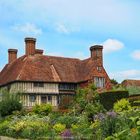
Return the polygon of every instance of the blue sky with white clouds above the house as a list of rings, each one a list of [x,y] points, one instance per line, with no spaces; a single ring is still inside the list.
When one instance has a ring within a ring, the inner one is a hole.
[[[7,50],[25,54],[25,37],[37,39],[46,55],[90,57],[104,46],[104,67],[112,79],[140,80],[139,0],[0,0],[0,70]]]

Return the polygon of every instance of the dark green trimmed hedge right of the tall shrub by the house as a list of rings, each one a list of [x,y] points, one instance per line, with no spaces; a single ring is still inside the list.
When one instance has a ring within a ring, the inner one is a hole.
[[[110,110],[113,108],[115,102],[122,98],[128,98],[129,92],[127,90],[122,91],[107,91],[100,93],[100,102],[105,109]]]

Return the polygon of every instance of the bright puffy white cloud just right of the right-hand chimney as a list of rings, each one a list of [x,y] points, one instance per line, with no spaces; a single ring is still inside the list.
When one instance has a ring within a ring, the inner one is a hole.
[[[102,43],[104,46],[104,52],[110,53],[119,51],[124,48],[124,44],[116,39],[107,39],[105,42]]]

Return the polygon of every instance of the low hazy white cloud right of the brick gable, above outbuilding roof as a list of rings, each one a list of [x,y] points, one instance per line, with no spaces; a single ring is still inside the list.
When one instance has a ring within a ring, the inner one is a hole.
[[[117,79],[118,81],[122,81],[124,79],[140,79],[140,70],[125,70],[110,73],[110,78]]]

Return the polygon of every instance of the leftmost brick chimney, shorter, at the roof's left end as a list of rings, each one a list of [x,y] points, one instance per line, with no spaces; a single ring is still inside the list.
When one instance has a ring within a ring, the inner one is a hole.
[[[17,49],[8,49],[8,63],[12,63],[14,60],[17,59]]]

